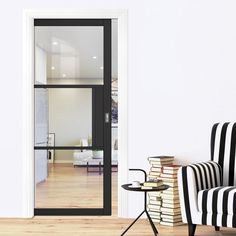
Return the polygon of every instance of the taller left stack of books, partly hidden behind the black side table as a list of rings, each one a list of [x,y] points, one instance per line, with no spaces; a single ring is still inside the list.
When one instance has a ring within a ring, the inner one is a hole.
[[[163,166],[173,164],[174,157],[173,156],[156,156],[149,157],[148,161],[151,165],[150,172],[148,175],[149,181],[154,182],[158,181],[163,184],[163,181],[159,179]],[[160,182],[161,181],[161,182]],[[159,186],[160,186],[159,185]],[[161,207],[162,207],[162,198],[161,191],[160,192],[150,192],[148,193],[149,202],[147,205],[147,210],[152,218],[153,222],[160,223],[161,221]]]

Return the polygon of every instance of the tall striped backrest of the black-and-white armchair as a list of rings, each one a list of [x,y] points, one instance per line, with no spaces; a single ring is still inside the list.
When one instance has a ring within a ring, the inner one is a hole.
[[[236,123],[217,123],[211,132],[211,160],[223,170],[223,186],[236,185]]]

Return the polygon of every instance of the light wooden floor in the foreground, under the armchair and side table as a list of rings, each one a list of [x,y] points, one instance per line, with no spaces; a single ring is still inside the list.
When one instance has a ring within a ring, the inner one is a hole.
[[[0,235],[58,235],[58,236],[118,236],[129,225],[131,220],[109,217],[35,217],[30,220],[2,219],[0,220]],[[164,227],[157,225],[159,235],[184,236],[187,227]],[[127,236],[152,236],[150,225],[146,220],[138,221],[127,233]],[[227,236],[236,235],[235,229],[222,229],[215,232],[213,227],[198,226],[196,236]]]

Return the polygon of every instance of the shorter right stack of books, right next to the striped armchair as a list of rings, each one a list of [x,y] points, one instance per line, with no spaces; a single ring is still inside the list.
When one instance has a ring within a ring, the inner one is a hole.
[[[159,179],[169,185],[167,190],[161,193],[161,221],[160,224],[167,226],[181,225],[182,217],[180,210],[177,172],[179,165],[163,166]]]

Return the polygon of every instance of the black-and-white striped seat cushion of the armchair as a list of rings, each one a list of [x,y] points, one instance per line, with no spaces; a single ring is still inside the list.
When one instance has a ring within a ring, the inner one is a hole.
[[[203,214],[236,214],[236,186],[221,186],[199,191],[198,209]]]

